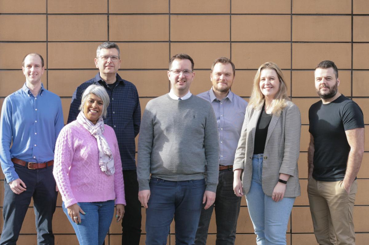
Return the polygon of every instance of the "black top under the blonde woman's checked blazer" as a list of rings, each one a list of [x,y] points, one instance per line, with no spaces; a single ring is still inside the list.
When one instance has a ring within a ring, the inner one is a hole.
[[[266,136],[268,134],[268,127],[272,114],[267,114],[263,105],[262,112],[260,113],[258,123],[255,128],[255,142],[254,142],[254,154],[263,154],[265,148]]]

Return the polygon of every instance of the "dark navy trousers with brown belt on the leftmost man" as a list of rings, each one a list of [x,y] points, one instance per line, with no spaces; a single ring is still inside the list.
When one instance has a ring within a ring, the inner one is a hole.
[[[14,164],[15,172],[27,186],[21,194],[15,194],[7,181],[4,181],[4,226],[1,245],[15,245],[21,230],[28,206],[33,198],[36,216],[37,244],[54,245],[52,216],[55,212],[58,192],[55,191],[53,166],[42,169],[28,169]]]

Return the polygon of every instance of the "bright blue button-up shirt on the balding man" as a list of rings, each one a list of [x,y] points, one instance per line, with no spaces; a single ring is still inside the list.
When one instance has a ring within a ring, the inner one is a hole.
[[[43,84],[36,97],[26,84],[6,97],[0,118],[0,163],[7,182],[19,178],[13,157],[37,163],[53,160],[55,142],[63,126],[61,100],[45,90]]]

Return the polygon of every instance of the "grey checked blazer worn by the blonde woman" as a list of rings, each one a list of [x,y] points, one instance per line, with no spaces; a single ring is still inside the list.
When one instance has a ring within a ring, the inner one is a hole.
[[[288,174],[284,197],[300,196],[297,160],[300,154],[301,115],[291,101],[286,101],[279,116],[272,115],[265,141],[262,168],[262,188],[267,196],[272,196],[279,174]],[[244,194],[248,193],[252,179],[252,155],[254,153],[255,129],[262,105],[254,109],[246,108],[241,137],[235,154],[233,170],[242,169],[241,180]]]

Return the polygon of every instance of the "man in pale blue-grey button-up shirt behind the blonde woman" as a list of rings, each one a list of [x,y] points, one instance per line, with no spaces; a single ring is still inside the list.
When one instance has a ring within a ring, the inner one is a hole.
[[[241,197],[233,191],[233,161],[241,135],[247,102],[231,91],[235,66],[230,59],[220,57],[211,66],[213,87],[197,96],[209,101],[217,118],[219,134],[219,179],[215,203],[202,209],[196,232],[196,245],[205,245],[211,214],[215,207],[217,224],[216,245],[234,244]]]

